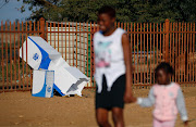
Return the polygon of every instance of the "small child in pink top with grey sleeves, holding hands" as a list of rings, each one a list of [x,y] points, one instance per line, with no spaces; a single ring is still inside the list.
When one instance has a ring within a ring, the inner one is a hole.
[[[152,86],[148,98],[138,98],[137,103],[142,106],[151,106],[154,110],[154,127],[174,127],[177,111],[184,125],[187,126],[187,113],[184,97],[180,86],[171,82],[170,77],[173,68],[168,63],[160,63],[156,72],[157,84]]]

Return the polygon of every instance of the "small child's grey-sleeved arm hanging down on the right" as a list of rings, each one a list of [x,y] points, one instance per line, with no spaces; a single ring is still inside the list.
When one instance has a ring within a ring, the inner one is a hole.
[[[187,118],[187,112],[186,112],[185,102],[184,102],[184,96],[181,88],[177,91],[176,106],[181,114],[181,119],[186,123],[188,118]]]

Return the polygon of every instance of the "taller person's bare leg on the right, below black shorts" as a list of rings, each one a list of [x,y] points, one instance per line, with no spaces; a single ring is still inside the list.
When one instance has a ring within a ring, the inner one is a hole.
[[[115,127],[124,127],[123,118],[123,109],[113,107],[112,109],[112,118]]]

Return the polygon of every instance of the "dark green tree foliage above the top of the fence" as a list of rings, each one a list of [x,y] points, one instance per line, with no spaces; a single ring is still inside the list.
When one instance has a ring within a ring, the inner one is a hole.
[[[102,5],[117,10],[118,22],[196,22],[195,0],[23,0],[30,20],[96,22]],[[21,8],[24,12],[24,5]]]

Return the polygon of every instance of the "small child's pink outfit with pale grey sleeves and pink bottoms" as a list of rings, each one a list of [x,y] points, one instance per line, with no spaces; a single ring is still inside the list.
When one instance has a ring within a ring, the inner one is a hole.
[[[148,98],[138,98],[137,103],[142,106],[155,105],[154,127],[164,127],[163,125],[174,127],[177,112],[180,112],[182,120],[187,120],[184,97],[176,82],[167,86],[154,85]]]

